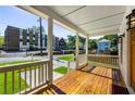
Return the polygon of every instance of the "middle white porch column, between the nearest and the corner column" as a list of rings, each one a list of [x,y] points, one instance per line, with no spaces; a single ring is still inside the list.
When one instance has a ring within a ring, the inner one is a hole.
[[[77,70],[78,68],[78,42],[79,42],[79,39],[78,39],[78,33],[76,33],[76,42],[75,42],[75,46],[76,46],[76,50],[75,50],[75,61],[76,61],[76,65],[75,65],[75,68]]]

